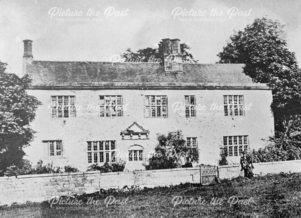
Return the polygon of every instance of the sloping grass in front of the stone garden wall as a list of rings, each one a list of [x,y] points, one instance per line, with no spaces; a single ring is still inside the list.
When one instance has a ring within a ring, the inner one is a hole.
[[[301,174],[269,174],[211,186],[181,184],[127,192],[109,190],[69,198],[73,202],[82,200],[82,205],[57,203],[50,207],[46,201],[2,206],[0,217],[301,217],[300,185]],[[231,196],[237,196],[239,201]],[[99,205],[87,204],[92,197]],[[213,197],[221,204],[210,204]],[[194,204],[183,204],[189,201]]]

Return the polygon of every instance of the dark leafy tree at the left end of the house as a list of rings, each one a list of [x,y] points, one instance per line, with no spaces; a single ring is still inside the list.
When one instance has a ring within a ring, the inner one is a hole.
[[[6,66],[0,62],[0,175],[8,166],[22,164],[22,148],[29,146],[35,133],[29,123],[41,104],[26,92],[31,79],[7,73]]]

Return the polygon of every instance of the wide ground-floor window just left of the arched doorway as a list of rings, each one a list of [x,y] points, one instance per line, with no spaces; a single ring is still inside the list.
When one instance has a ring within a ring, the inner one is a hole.
[[[87,141],[88,163],[116,162],[116,141]]]

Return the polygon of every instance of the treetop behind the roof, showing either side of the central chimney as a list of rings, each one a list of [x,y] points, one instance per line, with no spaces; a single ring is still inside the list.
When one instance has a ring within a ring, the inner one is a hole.
[[[191,53],[189,53],[189,47],[185,43],[180,44],[180,49],[183,55],[183,60],[186,62],[197,63],[198,60],[194,60]],[[137,52],[132,52],[131,48],[126,50],[126,53],[121,55],[121,58],[125,59],[125,62],[160,62],[162,57],[160,56],[158,48],[144,48],[139,49]]]

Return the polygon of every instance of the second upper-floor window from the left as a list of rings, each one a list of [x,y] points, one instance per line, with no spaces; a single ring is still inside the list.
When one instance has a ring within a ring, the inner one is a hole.
[[[122,95],[100,95],[101,117],[122,117],[123,100]]]

